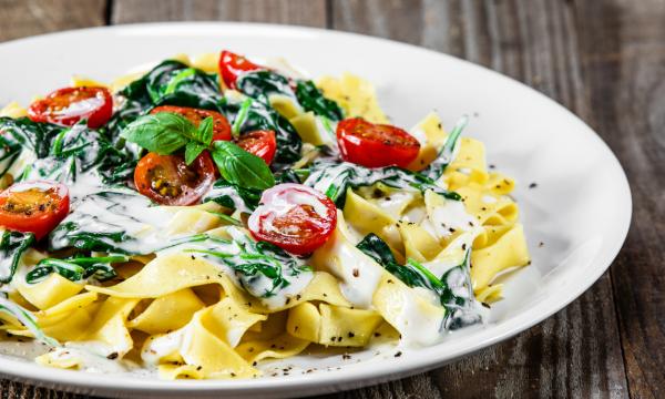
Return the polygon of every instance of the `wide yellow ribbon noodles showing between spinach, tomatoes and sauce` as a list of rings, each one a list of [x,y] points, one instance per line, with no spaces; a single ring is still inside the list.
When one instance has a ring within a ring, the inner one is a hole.
[[[217,53],[172,59],[208,73],[218,71]],[[71,85],[116,92],[143,73],[130,73],[109,85],[73,76]],[[340,104],[347,117],[388,123],[368,81],[345,73],[339,79],[324,76],[317,86]],[[323,146],[335,147],[332,121],[305,112],[291,95],[273,94],[269,101],[308,143],[295,167],[307,167],[325,153]],[[10,103],[0,116],[25,116],[25,110]],[[408,168],[420,171],[437,157],[448,134],[433,112],[409,132],[421,146]],[[288,294],[283,305],[249,295],[232,272],[202,254],[177,248],[132,255],[130,262],[114,265],[119,276],[111,282],[85,285],[51,274],[35,284],[17,283],[9,298],[31,311],[47,336],[64,344],[37,358],[60,368],[85,369],[92,356],[113,365],[119,364],[110,359],[124,358],[156,367],[165,379],[248,378],[260,375],[254,367],[258,361],[289,358],[313,344],[432,345],[443,338],[448,316],[440,298],[408,286],[358,249],[365,235],[381,237],[398,263],[410,258],[439,276],[462,265],[471,250],[471,282],[475,299],[483,303],[502,296],[502,285],[492,284],[497,275],[530,260],[519,208],[510,197],[515,182],[488,171],[480,141],[462,137],[453,154],[437,184],[459,193],[462,203],[432,191],[382,183],[348,190],[332,237],[308,260],[311,279],[299,293]],[[139,238],[154,236],[168,243],[202,233],[229,238],[227,222],[215,215],[228,209],[213,202],[155,208],[163,216],[158,226],[146,223],[137,231]],[[454,216],[457,224],[441,215]],[[29,250],[20,267],[32,267],[42,257]],[[9,334],[33,336],[11,315],[0,313],[0,323]],[[76,345],[92,355],[70,349]]]

